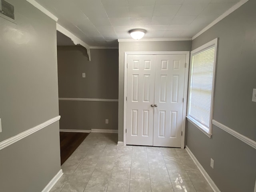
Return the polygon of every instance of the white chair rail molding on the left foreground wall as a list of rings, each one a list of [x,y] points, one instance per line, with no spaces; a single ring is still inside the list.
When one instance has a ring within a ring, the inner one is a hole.
[[[60,120],[60,116],[56,116],[56,117],[54,117],[54,118],[52,118],[52,119],[50,119],[46,122],[43,122],[43,123],[41,123],[41,124],[39,124],[39,125],[37,125],[33,128],[30,128],[30,129],[28,129],[24,132],[21,132],[20,134],[18,134],[16,136],[13,136],[11,138],[8,138],[8,139],[0,142],[0,150],[10,146],[11,144],[14,144],[14,143],[18,142],[19,140],[33,134],[34,132],[37,132],[37,131],[41,130],[42,128],[45,128],[45,127],[49,126],[50,124],[53,124],[54,122],[56,122],[58,120]]]

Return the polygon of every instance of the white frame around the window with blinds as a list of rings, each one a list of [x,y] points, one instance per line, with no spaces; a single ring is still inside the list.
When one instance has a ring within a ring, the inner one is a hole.
[[[193,56],[205,51],[207,48],[214,46],[215,52],[214,52],[214,66],[213,66],[213,78],[212,78],[212,95],[211,95],[211,107],[210,107],[210,122],[209,122],[209,128],[201,124],[198,120],[190,117],[189,111],[190,111],[190,98],[191,98],[191,88],[192,88],[192,74],[193,74]],[[217,54],[218,54],[218,38],[215,38],[214,40],[211,40],[210,42],[192,50],[190,52],[190,69],[189,69],[189,86],[188,86],[188,106],[187,106],[187,119],[189,122],[194,124],[200,131],[202,131],[204,134],[206,134],[209,138],[212,136],[212,118],[213,118],[213,105],[214,105],[214,91],[215,91],[215,74],[216,74],[216,63],[217,63]]]

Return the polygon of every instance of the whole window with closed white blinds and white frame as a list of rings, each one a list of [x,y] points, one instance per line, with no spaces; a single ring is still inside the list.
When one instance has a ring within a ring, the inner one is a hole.
[[[209,137],[212,135],[217,42],[216,38],[193,50],[190,58],[187,118]]]

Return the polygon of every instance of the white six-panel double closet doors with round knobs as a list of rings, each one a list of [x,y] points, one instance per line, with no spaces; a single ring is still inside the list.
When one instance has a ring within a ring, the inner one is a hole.
[[[186,54],[127,61],[126,144],[181,147]]]

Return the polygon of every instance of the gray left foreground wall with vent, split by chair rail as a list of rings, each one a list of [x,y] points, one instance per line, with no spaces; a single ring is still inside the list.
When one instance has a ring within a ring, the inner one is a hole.
[[[0,18],[0,142],[58,116],[56,22],[26,0]],[[58,122],[0,150],[0,191],[42,191],[60,170]]]

